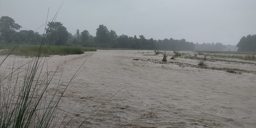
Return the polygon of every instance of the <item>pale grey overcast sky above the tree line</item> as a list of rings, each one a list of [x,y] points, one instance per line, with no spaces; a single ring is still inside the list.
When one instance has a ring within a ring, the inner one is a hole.
[[[0,17],[35,30],[52,19],[62,0],[0,0]],[[116,34],[194,43],[237,44],[256,34],[256,0],[66,0],[56,21],[93,36],[100,24]],[[23,30],[26,30],[23,28]],[[44,26],[36,30],[44,33]]]

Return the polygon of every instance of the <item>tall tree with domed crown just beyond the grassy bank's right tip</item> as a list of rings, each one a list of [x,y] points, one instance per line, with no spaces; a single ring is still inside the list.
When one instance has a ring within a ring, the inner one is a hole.
[[[99,28],[97,28],[96,30],[97,31],[95,41],[100,44],[109,43],[110,37],[108,28],[104,25],[99,25]]]

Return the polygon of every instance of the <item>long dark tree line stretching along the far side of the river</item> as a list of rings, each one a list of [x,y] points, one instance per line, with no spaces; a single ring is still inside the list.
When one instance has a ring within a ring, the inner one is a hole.
[[[0,43],[28,43],[40,44],[43,37],[44,42],[53,45],[81,45],[84,47],[102,47],[102,48],[126,48],[126,49],[151,49],[151,50],[173,50],[173,51],[246,51],[246,45],[255,46],[255,35],[242,37],[240,42],[235,45],[223,45],[222,43],[203,43],[194,44],[186,39],[165,38],[164,40],[146,39],[143,35],[133,37],[127,35],[117,36],[114,30],[108,30],[104,25],[99,25],[96,29],[96,36],[92,36],[87,30],[76,30],[76,34],[72,35],[67,31],[61,22],[49,22],[45,28],[46,34],[39,34],[32,30],[20,30],[19,24],[8,16],[0,18]],[[20,30],[19,32],[17,30]],[[252,41],[245,44],[244,42]],[[253,50],[253,47],[249,46]],[[256,48],[254,48],[255,50]]]

